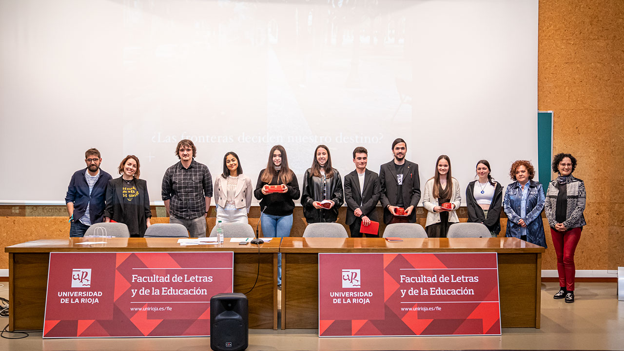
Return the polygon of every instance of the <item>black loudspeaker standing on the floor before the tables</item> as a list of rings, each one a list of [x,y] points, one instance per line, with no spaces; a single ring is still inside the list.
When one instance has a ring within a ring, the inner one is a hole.
[[[249,345],[245,294],[218,294],[210,299],[210,349],[242,351]]]

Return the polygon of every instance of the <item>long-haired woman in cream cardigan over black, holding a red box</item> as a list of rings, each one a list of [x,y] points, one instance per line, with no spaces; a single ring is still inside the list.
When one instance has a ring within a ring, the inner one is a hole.
[[[436,161],[436,175],[427,180],[422,196],[422,205],[429,211],[425,225],[427,236],[446,238],[451,224],[459,222],[456,210],[461,204],[459,182],[451,176],[451,159],[441,155]]]

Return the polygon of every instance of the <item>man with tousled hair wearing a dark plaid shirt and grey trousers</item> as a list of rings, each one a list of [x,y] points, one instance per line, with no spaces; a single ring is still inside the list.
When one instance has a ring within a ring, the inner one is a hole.
[[[169,167],[162,178],[162,199],[169,223],[184,225],[190,237],[205,237],[212,176],[208,166],[195,161],[197,149],[192,141],[178,142],[175,155],[180,162]]]

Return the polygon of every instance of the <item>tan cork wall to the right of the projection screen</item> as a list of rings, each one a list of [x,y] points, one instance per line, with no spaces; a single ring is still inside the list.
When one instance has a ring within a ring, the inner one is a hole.
[[[587,189],[576,267],[616,269],[624,265],[624,1],[540,0],[538,61],[538,107],[554,112],[553,153],[577,158],[574,175]],[[544,269],[552,269],[551,250]]]

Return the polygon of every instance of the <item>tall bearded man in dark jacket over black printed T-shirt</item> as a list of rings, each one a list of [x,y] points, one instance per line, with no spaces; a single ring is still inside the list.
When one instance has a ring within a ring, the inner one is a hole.
[[[384,207],[384,223],[416,222],[416,206],[421,200],[421,178],[418,165],[405,159],[406,142],[398,138],[392,142],[394,159],[381,165],[381,205]],[[399,217],[397,207],[405,209],[405,217]]]

